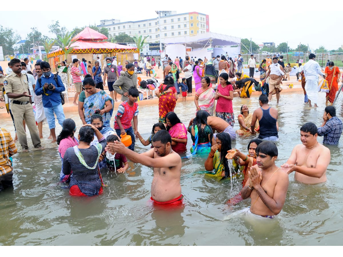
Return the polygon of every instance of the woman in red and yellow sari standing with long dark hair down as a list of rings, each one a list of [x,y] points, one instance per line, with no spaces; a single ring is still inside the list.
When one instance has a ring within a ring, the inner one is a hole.
[[[156,96],[158,97],[158,121],[166,123],[166,114],[174,111],[177,101],[177,92],[173,77],[166,76],[164,78],[164,83],[158,87]]]

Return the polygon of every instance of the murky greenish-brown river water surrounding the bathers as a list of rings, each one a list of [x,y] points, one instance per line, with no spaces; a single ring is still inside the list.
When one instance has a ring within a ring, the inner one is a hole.
[[[300,144],[301,125],[322,123],[324,94],[318,108],[305,107],[302,94],[281,95],[279,110],[279,157],[284,163],[293,147]],[[234,112],[247,104],[258,108],[258,98],[235,98]],[[193,101],[177,102],[175,112],[186,126],[193,117]],[[81,122],[74,118],[77,131]],[[342,113],[338,113],[341,117]],[[141,135],[147,138],[157,121],[157,106],[143,106],[138,115]],[[11,121],[2,125],[13,133]],[[111,123],[112,124],[112,123]],[[59,125],[58,125],[59,126]],[[47,125],[44,125],[48,136]],[[60,127],[57,128],[59,130]],[[232,147],[247,153],[252,137],[237,138]],[[319,142],[322,142],[322,138]],[[28,140],[30,141],[30,140]],[[102,172],[104,193],[89,198],[71,197],[58,185],[60,157],[57,147],[43,140],[43,151],[19,152],[13,156],[14,188],[0,193],[0,245],[341,245],[343,236],[342,139],[330,146],[328,181],[304,185],[289,175],[289,187],[283,210],[277,219],[260,221],[232,217],[232,213],[250,205],[250,200],[228,208],[226,201],[241,189],[243,178],[217,182],[194,174],[204,170],[204,156],[182,159],[181,187],[184,206],[176,209],[154,207],[150,201],[153,179],[151,168],[130,163],[126,174]],[[29,142],[31,143],[31,142]],[[32,144],[32,143],[31,143]],[[17,144],[17,146],[20,146]],[[188,137],[188,153],[191,146]],[[31,145],[32,147],[32,145]],[[135,150],[150,149],[139,142]]]

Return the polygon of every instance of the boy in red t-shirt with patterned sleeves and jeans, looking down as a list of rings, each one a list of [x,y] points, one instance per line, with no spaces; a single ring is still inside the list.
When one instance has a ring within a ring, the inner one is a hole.
[[[138,131],[138,103],[137,98],[139,91],[135,87],[129,89],[129,99],[122,102],[119,107],[115,117],[114,129],[117,135],[121,138],[125,133],[131,136],[132,144],[129,149],[134,151],[135,137],[137,137]],[[131,120],[133,118],[134,131],[132,129]]]

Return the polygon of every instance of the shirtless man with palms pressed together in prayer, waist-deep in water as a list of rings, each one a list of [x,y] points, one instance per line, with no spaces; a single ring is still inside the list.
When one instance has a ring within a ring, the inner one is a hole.
[[[288,176],[275,165],[278,151],[273,142],[265,141],[256,148],[258,168],[250,168],[249,179],[240,191],[243,199],[251,198],[247,212],[258,217],[274,218],[279,214],[286,199]]]

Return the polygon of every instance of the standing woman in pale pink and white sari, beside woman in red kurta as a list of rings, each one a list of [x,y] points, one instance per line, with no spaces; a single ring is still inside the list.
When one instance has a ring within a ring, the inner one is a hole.
[[[201,79],[201,87],[197,90],[194,97],[194,103],[197,107],[197,111],[204,110],[213,116],[214,112],[214,96],[215,91],[210,87],[211,80],[209,77],[203,77]]]

